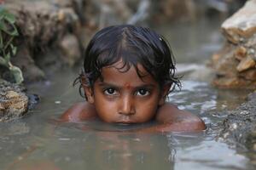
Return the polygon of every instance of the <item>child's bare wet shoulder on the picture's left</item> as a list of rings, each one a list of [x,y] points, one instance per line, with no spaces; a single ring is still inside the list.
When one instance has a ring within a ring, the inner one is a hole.
[[[79,102],[65,111],[60,119],[61,122],[81,122],[96,118],[96,110],[87,102]]]

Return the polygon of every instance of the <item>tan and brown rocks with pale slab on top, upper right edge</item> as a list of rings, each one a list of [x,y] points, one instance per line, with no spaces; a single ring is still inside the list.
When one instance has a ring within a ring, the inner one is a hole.
[[[213,84],[218,88],[256,88],[256,0],[247,1],[225,20],[224,47],[212,55],[216,72]]]

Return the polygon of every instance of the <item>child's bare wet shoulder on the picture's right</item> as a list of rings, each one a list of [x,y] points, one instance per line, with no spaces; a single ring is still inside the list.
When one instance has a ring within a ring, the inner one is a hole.
[[[181,111],[176,105],[166,103],[159,108],[156,121],[160,122],[161,131],[200,131],[206,129],[199,116],[189,111]]]

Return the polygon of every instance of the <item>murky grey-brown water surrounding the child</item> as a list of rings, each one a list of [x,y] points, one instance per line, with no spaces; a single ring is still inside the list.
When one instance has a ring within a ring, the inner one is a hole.
[[[201,65],[221,45],[218,23],[201,24],[208,27],[203,31],[201,25],[159,29],[172,41],[177,63],[186,64],[183,67]],[[173,36],[168,36],[169,31]],[[202,33],[206,36],[199,36]],[[218,122],[226,111],[244,101],[246,91],[218,90],[207,81],[186,78],[182,90],[173,92],[169,99],[180,109],[201,116],[207,123],[206,131],[114,133],[108,130],[137,126],[92,122],[97,130],[88,130],[90,122],[51,121],[83,100],[72,86],[76,74],[61,71],[49,82],[32,85],[30,92],[41,96],[40,104],[23,119],[0,124],[0,169],[253,169],[247,157],[216,140]]]

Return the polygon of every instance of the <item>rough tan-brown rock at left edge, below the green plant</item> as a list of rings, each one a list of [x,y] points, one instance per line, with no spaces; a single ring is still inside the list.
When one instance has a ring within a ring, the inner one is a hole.
[[[0,79],[0,122],[23,116],[28,109],[25,88]]]

